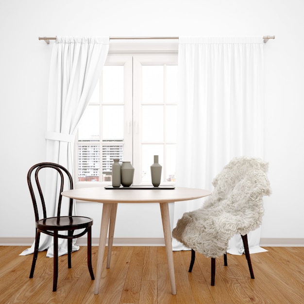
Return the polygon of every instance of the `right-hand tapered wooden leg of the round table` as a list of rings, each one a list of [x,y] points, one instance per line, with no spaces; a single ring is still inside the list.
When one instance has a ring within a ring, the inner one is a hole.
[[[159,204],[160,204],[160,212],[162,215],[162,222],[164,229],[171,289],[172,289],[172,294],[175,295],[176,287],[175,287],[175,274],[174,274],[173,252],[172,252],[172,236],[171,236],[170,218],[169,218],[169,203],[159,203]]]

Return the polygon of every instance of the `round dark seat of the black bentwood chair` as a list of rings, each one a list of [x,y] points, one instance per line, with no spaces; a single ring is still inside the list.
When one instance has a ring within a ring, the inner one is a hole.
[[[36,228],[39,230],[76,230],[92,225],[93,220],[91,218],[78,216],[53,217],[36,221]]]

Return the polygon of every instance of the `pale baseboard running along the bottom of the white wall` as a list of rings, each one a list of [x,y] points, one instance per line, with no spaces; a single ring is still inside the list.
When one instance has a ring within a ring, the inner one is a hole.
[[[0,237],[0,246],[32,246],[31,237]],[[77,245],[85,246],[86,237],[77,239]],[[92,246],[98,246],[99,238],[92,238]],[[114,237],[114,246],[165,246],[163,238],[119,238]],[[304,247],[304,238],[261,238],[261,247]]]

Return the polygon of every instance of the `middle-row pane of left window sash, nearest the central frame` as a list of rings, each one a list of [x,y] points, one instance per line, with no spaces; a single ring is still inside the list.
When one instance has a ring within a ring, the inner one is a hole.
[[[102,139],[123,139],[123,105],[102,106]]]

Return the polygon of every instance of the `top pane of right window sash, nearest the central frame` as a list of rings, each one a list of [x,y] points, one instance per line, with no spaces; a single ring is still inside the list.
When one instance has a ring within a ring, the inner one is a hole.
[[[164,102],[164,67],[142,66],[142,103]]]

